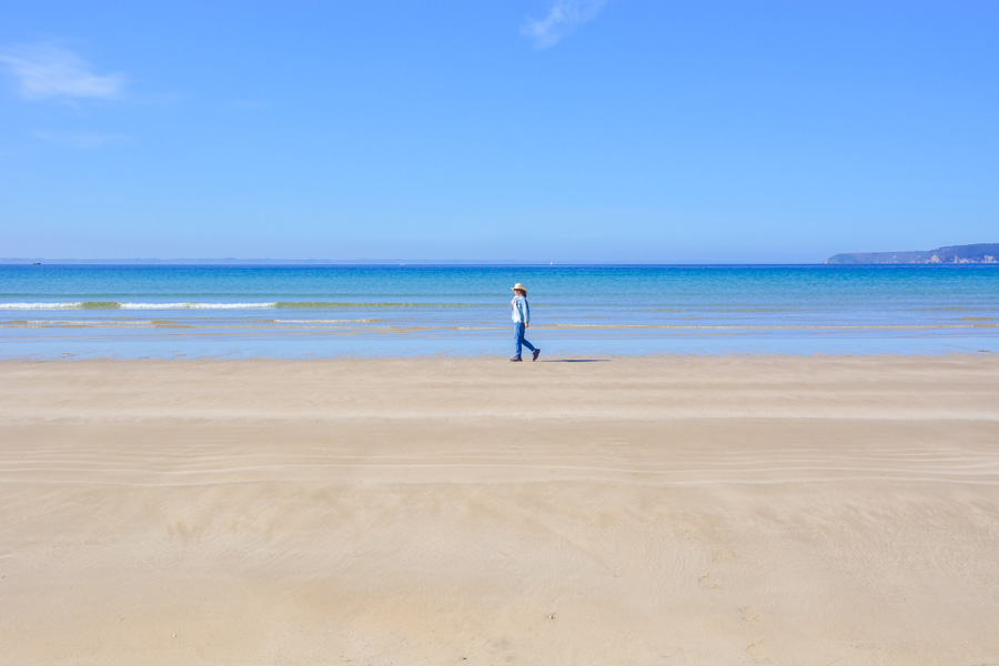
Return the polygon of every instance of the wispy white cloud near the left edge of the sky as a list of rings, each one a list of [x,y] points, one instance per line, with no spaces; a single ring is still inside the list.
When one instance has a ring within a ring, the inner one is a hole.
[[[0,63],[18,80],[24,99],[114,100],[124,94],[123,74],[97,74],[85,60],[53,44],[0,49]]]

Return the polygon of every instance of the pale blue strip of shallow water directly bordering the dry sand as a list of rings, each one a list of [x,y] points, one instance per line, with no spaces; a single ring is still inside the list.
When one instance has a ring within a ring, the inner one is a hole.
[[[991,326],[991,325],[990,325]],[[971,329],[973,326],[967,326]],[[983,326],[982,326],[983,327]],[[462,329],[462,332],[481,330]],[[504,329],[505,331],[505,329]],[[596,329],[601,336],[583,336],[579,331],[533,326],[529,339],[543,349],[543,362],[572,362],[577,359],[684,359],[684,357],[935,357],[979,356],[999,353],[999,339],[987,334],[972,336],[935,336],[924,333],[907,337],[875,335],[819,334],[798,339],[768,337],[718,332],[646,336],[644,329],[619,326],[616,331]],[[852,332],[851,332],[852,333]],[[340,333],[323,337],[269,337],[265,335],[222,337],[198,333],[155,341],[140,341],[123,335],[75,339],[64,337],[0,341],[0,363],[39,363],[49,361],[262,361],[336,362],[350,360],[428,360],[461,361],[505,360],[513,350],[508,335],[495,333],[451,337],[452,332],[422,335],[406,331],[384,335]],[[568,334],[568,335],[567,335]]]

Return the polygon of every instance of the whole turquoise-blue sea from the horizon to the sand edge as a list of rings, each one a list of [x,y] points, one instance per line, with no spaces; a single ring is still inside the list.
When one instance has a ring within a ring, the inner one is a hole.
[[[999,352],[999,268],[0,266],[0,357]]]

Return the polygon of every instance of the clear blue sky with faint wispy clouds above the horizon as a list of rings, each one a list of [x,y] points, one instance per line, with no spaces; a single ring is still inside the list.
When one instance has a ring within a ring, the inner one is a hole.
[[[999,2],[0,0],[0,256],[999,242]]]

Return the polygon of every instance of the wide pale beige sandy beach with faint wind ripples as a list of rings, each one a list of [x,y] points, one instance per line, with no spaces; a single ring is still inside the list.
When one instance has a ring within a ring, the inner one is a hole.
[[[999,663],[999,357],[0,362],[0,663]]]

